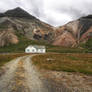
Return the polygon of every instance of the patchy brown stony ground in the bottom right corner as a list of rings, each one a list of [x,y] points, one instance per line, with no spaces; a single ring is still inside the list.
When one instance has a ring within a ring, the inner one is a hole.
[[[63,83],[71,92],[92,92],[92,76],[81,73],[41,70],[43,76],[56,83]]]

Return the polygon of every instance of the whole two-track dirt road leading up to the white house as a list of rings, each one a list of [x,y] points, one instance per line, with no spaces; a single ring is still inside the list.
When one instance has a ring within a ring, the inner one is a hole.
[[[31,57],[20,57],[4,66],[5,73],[0,76],[0,92],[71,92],[64,85],[41,78]]]

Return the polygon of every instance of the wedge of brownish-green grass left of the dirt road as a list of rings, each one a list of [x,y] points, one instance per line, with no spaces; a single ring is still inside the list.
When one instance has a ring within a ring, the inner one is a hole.
[[[27,54],[20,53],[20,54],[0,55],[0,67],[5,63],[8,63],[10,60],[24,55],[27,55]]]

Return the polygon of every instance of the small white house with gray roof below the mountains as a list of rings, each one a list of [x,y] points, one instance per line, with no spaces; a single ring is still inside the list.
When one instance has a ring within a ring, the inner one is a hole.
[[[30,45],[25,49],[26,53],[46,53],[45,46]]]

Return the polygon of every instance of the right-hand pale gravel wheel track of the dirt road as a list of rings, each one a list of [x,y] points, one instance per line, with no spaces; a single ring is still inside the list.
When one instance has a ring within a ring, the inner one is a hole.
[[[26,82],[30,88],[30,92],[48,92],[44,84],[40,80],[40,76],[30,57],[27,57],[24,61]]]

